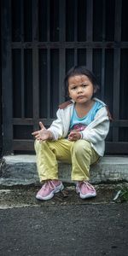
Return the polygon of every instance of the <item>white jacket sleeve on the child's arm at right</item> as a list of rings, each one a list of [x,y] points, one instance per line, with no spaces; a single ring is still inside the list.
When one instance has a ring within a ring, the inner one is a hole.
[[[104,141],[108,135],[109,125],[108,111],[103,107],[96,113],[93,122],[82,131],[83,139],[93,144]]]

